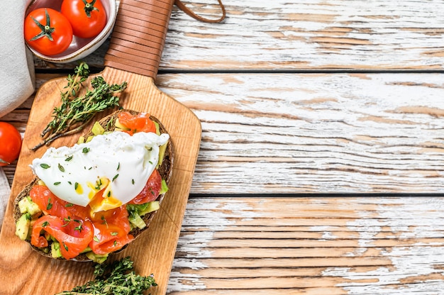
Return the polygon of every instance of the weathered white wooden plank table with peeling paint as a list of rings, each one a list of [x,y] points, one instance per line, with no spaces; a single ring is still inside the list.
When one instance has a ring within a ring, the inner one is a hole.
[[[203,128],[168,294],[443,294],[444,2],[223,3],[157,76]]]

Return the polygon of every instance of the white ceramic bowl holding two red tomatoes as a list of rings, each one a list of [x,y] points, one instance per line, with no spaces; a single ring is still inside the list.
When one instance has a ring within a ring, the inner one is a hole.
[[[26,11],[26,15],[33,11],[34,9],[38,9],[41,7],[46,7],[50,9],[55,9],[60,11],[60,7],[62,6],[63,0],[33,0],[30,1],[28,9]],[[116,0],[101,0],[104,9],[106,11],[107,21],[104,30],[96,35],[94,38],[78,38],[77,36],[73,36],[70,47],[67,48],[64,52],[60,53],[60,55],[42,55],[41,53],[33,50],[28,46],[28,48],[42,60],[46,60],[48,62],[73,62],[74,60],[80,60],[87,55],[90,55],[92,52],[97,50],[102,43],[105,42],[106,38],[109,37],[111,31],[113,30],[114,23],[116,22],[117,15],[117,3]]]

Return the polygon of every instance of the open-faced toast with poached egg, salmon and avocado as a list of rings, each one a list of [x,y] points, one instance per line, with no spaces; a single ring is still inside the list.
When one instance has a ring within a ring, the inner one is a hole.
[[[172,142],[160,121],[121,110],[72,147],[50,147],[16,197],[16,235],[40,254],[104,262],[148,228],[172,172]]]

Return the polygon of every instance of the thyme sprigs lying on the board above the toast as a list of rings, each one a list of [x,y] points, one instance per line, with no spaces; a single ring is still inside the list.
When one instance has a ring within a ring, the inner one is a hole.
[[[91,79],[92,89],[87,89],[84,95],[77,96],[88,77],[89,66],[85,62],[74,69],[74,75],[67,77],[68,83],[64,88],[66,91],[61,92],[62,103],[54,108],[52,121],[40,133],[40,137],[45,139],[31,150],[37,150],[62,136],[79,132],[96,113],[118,106],[119,97],[116,94],[126,89],[126,82],[108,84],[104,77],[96,76]]]

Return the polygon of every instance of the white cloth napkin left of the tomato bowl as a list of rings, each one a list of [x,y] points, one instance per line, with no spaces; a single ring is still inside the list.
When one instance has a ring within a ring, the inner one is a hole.
[[[30,0],[1,0],[0,118],[34,91],[33,55],[23,40],[23,19]]]

